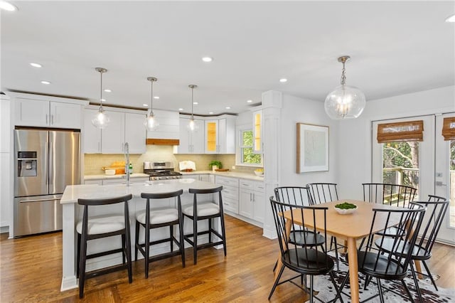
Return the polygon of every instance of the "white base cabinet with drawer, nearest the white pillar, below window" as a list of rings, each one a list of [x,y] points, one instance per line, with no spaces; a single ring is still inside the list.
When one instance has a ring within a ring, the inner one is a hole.
[[[241,179],[239,187],[239,214],[264,223],[264,183]]]

